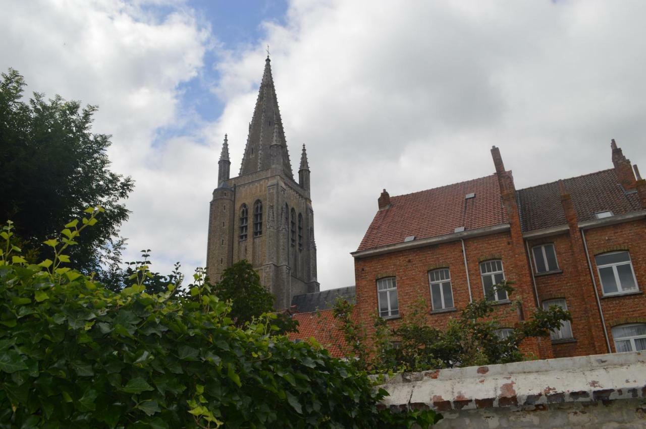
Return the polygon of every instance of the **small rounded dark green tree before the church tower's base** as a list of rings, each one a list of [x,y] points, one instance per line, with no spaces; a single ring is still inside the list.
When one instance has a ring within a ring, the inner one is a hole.
[[[236,326],[244,326],[262,314],[274,312],[274,295],[260,284],[260,276],[246,259],[224,270],[215,294],[224,301],[231,301],[230,317]],[[298,321],[289,315],[280,312],[276,317],[275,324],[282,332],[297,330]]]

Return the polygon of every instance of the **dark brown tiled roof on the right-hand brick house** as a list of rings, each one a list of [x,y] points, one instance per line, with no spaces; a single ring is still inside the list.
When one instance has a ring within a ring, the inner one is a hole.
[[[563,179],[579,222],[596,219],[595,213],[611,210],[621,215],[641,210],[636,192],[625,192],[614,168]],[[559,183],[545,183],[516,191],[523,232],[567,224]]]

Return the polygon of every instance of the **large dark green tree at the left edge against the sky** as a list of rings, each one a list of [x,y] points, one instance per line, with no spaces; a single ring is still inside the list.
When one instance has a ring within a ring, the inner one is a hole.
[[[26,102],[23,77],[12,69],[1,76],[0,221],[16,222],[16,234],[32,249],[25,257],[35,260],[60,225],[87,206],[105,207],[101,223],[78,239],[70,258],[81,272],[107,276],[120,262],[119,228],[129,215],[123,200],[133,182],[110,171],[109,136],[91,131],[96,106],[39,93]]]

